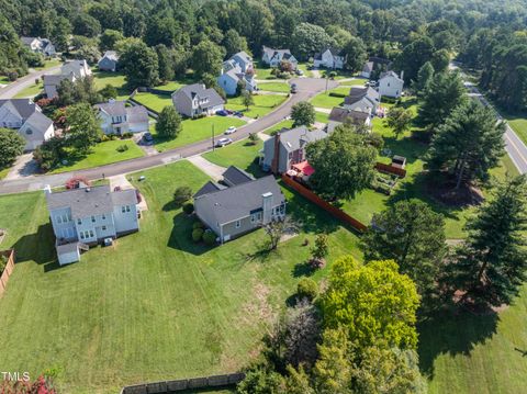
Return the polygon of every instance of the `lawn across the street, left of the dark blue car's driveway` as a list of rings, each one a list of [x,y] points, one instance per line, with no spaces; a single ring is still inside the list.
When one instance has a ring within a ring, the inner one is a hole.
[[[117,147],[126,145],[128,150],[117,151]],[[110,165],[116,161],[134,159],[144,156],[143,150],[132,139],[106,140],[97,144],[91,153],[85,157],[70,157],[69,164],[60,166],[52,171],[52,173],[76,171],[85,168],[99,167]]]

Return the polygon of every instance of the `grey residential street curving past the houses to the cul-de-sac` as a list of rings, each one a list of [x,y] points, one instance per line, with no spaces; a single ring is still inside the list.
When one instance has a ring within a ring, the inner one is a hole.
[[[231,135],[233,140],[239,140],[246,138],[249,133],[258,133],[272,125],[279,123],[283,119],[290,115],[291,108],[299,101],[305,101],[313,95],[322,92],[326,88],[325,79],[316,78],[298,78],[291,81],[296,83],[298,93],[292,94],[291,98],[282,105],[277,108],[273,112],[258,119],[257,121],[249,123]],[[338,83],[335,81],[327,81],[327,88],[333,89]],[[145,156],[137,159],[120,161],[108,166],[98,168],[90,168],[80,171],[65,172],[49,176],[36,176],[27,177],[24,179],[0,181],[0,194],[7,193],[20,193],[25,191],[42,190],[46,184],[53,187],[63,185],[66,180],[71,176],[82,176],[90,180],[100,179],[102,175],[104,177],[113,177],[123,173],[139,171],[145,168],[162,166],[184,157],[194,156],[212,149],[212,140],[202,140],[195,144],[187,145],[181,148],[167,150],[155,156]]]

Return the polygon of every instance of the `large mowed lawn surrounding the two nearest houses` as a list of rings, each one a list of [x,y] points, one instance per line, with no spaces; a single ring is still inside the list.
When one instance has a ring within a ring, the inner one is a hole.
[[[278,251],[258,254],[265,235],[221,247],[191,241],[193,217],[172,204],[177,187],[197,191],[208,177],[187,161],[132,175],[149,211],[141,232],[58,267],[43,192],[0,196],[0,223],[18,264],[0,299],[0,365],[7,371],[61,369],[64,393],[116,393],[125,384],[240,370],[285,306],[310,255],[305,238],[329,234],[328,266],[360,258],[357,237],[284,190],[302,233]],[[329,267],[317,271],[319,281]]]

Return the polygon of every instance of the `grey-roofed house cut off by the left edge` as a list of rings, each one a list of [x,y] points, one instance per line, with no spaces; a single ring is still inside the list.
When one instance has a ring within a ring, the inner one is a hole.
[[[53,121],[30,99],[0,100],[0,127],[18,130],[24,150],[34,150],[55,135]]]

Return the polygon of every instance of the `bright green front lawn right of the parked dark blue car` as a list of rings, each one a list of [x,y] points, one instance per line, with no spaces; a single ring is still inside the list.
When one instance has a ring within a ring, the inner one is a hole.
[[[156,131],[152,127],[152,133],[155,138],[156,149],[164,151],[173,149],[183,145],[198,143],[203,139],[212,137],[212,127],[214,126],[214,134],[216,138],[231,126],[239,127],[245,124],[245,121],[237,117],[227,116],[208,116],[202,119],[188,119],[182,122],[182,130],[175,139],[166,140],[157,136]],[[211,143],[212,144],[212,143]]]

